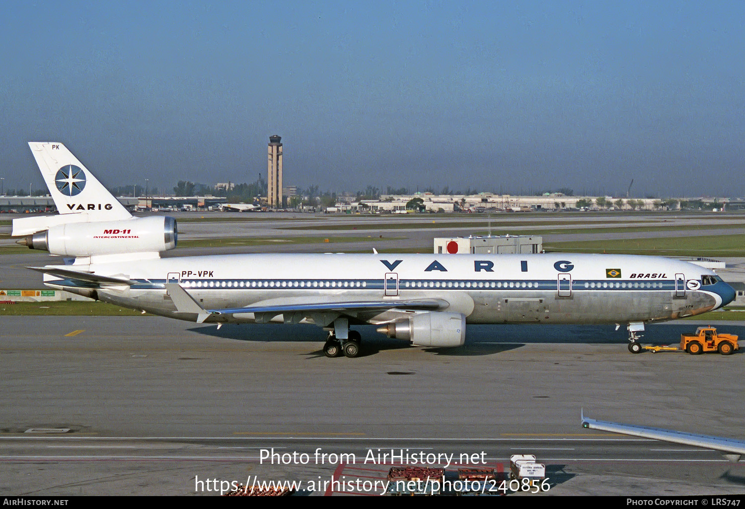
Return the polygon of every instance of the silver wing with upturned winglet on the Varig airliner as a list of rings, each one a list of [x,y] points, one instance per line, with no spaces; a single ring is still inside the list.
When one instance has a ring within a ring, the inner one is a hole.
[[[247,307],[232,307],[221,310],[205,310],[191,295],[186,292],[180,284],[167,283],[165,288],[168,295],[173,299],[176,309],[181,313],[197,313],[197,323],[203,322],[210,315],[235,315],[239,313],[254,313],[255,315],[266,314],[277,316],[285,313],[302,313],[312,315],[314,313],[336,313],[345,315],[364,311],[385,310],[439,310],[448,306],[447,301],[439,298],[419,298],[402,300],[379,300],[379,301],[325,301],[325,302],[302,302],[297,304],[273,304]]]

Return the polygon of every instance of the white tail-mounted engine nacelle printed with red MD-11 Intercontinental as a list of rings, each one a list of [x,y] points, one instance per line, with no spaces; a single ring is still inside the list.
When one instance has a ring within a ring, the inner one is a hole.
[[[173,217],[139,217],[123,221],[69,223],[28,235],[19,244],[60,256],[153,253],[176,247]]]

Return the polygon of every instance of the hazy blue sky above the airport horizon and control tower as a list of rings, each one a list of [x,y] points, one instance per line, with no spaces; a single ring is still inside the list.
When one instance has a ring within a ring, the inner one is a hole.
[[[0,4],[0,176],[745,196],[745,2]]]

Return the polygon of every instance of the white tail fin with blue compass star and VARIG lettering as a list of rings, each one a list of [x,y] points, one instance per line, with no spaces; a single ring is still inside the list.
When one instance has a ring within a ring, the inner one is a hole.
[[[124,205],[61,143],[28,144],[60,214],[83,214],[84,221],[130,219]]]

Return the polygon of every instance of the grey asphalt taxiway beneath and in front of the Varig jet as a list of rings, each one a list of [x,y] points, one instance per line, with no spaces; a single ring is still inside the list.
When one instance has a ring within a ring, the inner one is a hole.
[[[695,325],[650,326],[644,340],[674,343]],[[463,348],[438,350],[361,327],[363,356],[328,359],[313,326],[4,317],[0,493],[191,494],[195,477],[380,478],[390,467],[261,463],[272,447],[484,452],[503,471],[510,454],[533,453],[550,493],[743,493],[744,467],[716,452],[580,427],[584,409],[745,437],[743,354],[633,355],[613,329],[469,326]],[[28,432],[39,428],[69,432]]]

